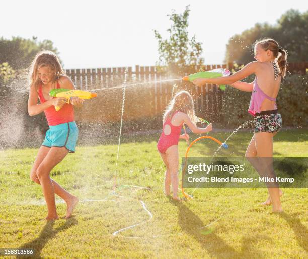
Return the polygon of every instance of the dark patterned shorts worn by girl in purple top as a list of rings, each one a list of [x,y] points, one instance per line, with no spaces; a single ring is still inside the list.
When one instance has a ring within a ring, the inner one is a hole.
[[[255,116],[255,133],[269,132],[275,133],[280,130],[282,119],[278,110],[262,111]]]

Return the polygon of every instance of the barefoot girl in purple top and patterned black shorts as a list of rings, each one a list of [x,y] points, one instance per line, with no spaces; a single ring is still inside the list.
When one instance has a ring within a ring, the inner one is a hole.
[[[255,59],[243,69],[230,76],[208,79],[196,79],[196,85],[229,84],[242,91],[252,92],[248,112],[255,117],[255,134],[246,150],[246,157],[260,175],[273,177],[273,136],[282,125],[281,115],[276,105],[276,97],[281,78],[286,75],[287,53],[278,43],[270,38],[258,40],[254,44]],[[255,74],[251,83],[241,82],[245,77]],[[263,159],[260,159],[263,158]],[[270,158],[270,159],[265,159]],[[273,205],[273,212],[281,212],[280,196],[277,183],[267,184],[269,197],[263,205]]]

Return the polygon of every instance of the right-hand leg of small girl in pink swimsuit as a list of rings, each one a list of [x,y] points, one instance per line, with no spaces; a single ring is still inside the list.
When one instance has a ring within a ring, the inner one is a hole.
[[[166,151],[167,161],[169,165],[171,183],[172,183],[172,192],[173,199],[178,200],[178,188],[179,188],[179,152],[178,145],[173,145],[169,147]]]

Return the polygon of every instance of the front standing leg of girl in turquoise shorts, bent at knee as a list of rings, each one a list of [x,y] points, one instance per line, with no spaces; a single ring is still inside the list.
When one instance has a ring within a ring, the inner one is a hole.
[[[49,174],[50,171],[63,160],[67,153],[68,150],[65,147],[51,147],[43,161],[36,169],[36,175],[42,186],[45,201],[47,203],[47,220],[58,218],[55,207],[54,186]],[[70,208],[70,210],[72,209]]]

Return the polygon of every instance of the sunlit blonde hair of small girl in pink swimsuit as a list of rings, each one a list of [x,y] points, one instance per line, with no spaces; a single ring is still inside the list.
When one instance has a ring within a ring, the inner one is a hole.
[[[193,124],[196,124],[197,117],[194,110],[194,101],[187,91],[182,90],[175,94],[165,110],[163,121],[165,122],[168,117],[171,118],[176,111],[186,113]]]

